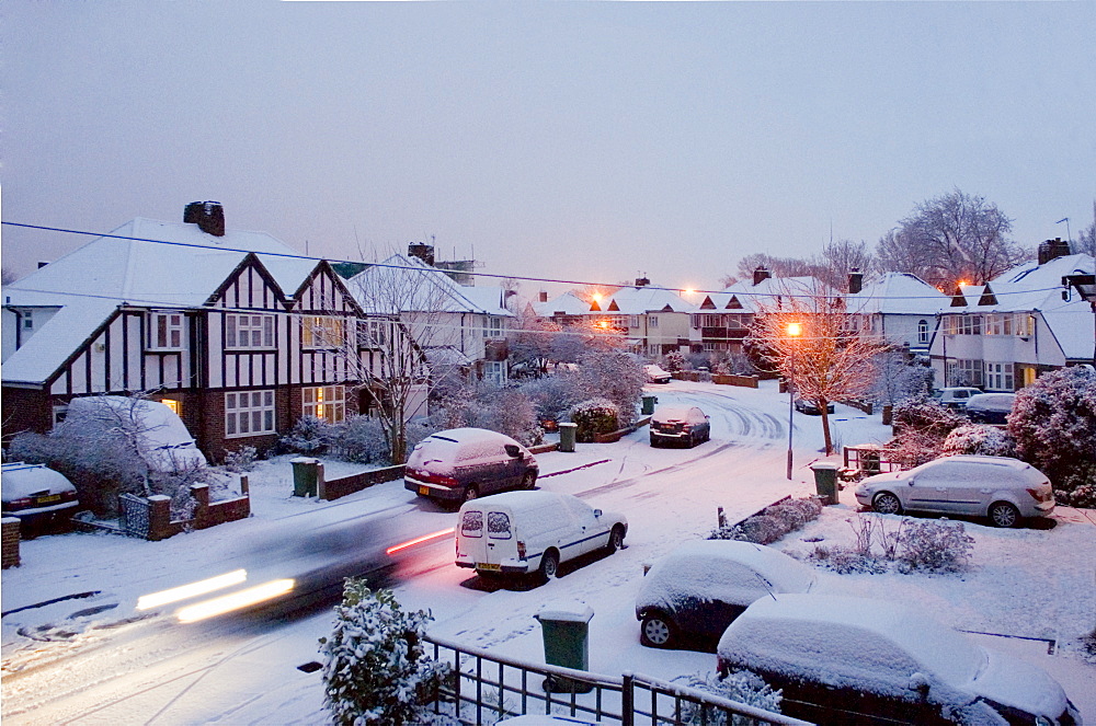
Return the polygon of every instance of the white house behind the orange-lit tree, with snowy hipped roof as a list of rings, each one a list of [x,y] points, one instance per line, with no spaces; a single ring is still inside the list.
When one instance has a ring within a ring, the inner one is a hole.
[[[846,311],[861,333],[904,346],[912,355],[928,355],[936,320],[950,299],[909,273],[883,273],[861,285],[858,272],[849,274]]]

